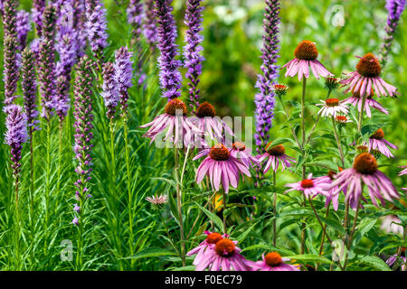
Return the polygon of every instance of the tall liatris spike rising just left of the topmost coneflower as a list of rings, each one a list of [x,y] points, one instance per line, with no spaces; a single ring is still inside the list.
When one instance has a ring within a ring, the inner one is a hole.
[[[258,75],[256,87],[260,90],[255,98],[256,104],[256,140],[258,153],[264,153],[269,139],[271,121],[274,117],[275,95],[271,89],[278,78],[279,67],[275,65],[279,58],[279,1],[266,0],[266,11],[263,20],[263,48],[261,49],[262,74]]]

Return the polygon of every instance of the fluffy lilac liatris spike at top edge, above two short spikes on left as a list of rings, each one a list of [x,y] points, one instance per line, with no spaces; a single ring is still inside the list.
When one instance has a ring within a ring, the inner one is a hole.
[[[99,54],[108,46],[108,26],[106,22],[106,9],[99,0],[86,0],[85,29],[90,49]]]

